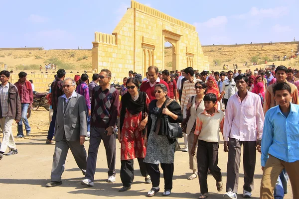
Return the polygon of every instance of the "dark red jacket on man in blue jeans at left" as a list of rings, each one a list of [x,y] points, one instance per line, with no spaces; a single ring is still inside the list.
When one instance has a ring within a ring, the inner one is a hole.
[[[17,91],[20,96],[21,103],[29,103],[32,104],[33,102],[33,91],[31,87],[31,83],[29,81],[25,81],[25,83],[22,83],[20,80],[18,80],[14,85],[17,88]]]

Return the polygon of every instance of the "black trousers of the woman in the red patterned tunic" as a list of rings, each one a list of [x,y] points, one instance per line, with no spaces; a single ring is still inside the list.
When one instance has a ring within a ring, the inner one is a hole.
[[[143,161],[144,158],[137,158],[140,172],[143,177],[147,177],[148,171],[146,163]],[[130,187],[134,180],[134,159],[132,160],[121,160],[121,180],[124,187]]]

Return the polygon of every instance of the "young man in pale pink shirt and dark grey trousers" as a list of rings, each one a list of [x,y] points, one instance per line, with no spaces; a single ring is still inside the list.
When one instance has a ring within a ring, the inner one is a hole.
[[[248,77],[235,78],[238,91],[231,96],[225,111],[223,140],[228,152],[226,194],[224,199],[237,199],[241,148],[243,147],[243,197],[251,198],[256,165],[256,146],[261,146],[264,114],[261,98],[247,90]]]

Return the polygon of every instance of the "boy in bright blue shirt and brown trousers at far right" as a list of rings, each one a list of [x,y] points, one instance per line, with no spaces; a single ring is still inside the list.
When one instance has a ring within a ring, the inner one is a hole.
[[[286,169],[293,198],[299,198],[299,105],[291,103],[291,87],[283,82],[273,87],[279,104],[266,112],[262,138],[261,199],[273,199],[279,174]]]

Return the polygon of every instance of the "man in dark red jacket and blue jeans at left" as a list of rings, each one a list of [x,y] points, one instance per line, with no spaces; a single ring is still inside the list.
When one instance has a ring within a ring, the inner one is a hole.
[[[17,124],[16,138],[22,138],[22,137],[24,137],[22,122],[24,122],[24,125],[25,125],[26,135],[28,136],[31,133],[31,127],[30,127],[29,121],[27,119],[27,110],[28,110],[28,108],[31,107],[32,102],[33,102],[33,91],[32,91],[32,87],[31,87],[31,82],[26,80],[27,73],[20,72],[18,74],[18,77],[19,77],[19,79],[16,83],[14,83],[14,85],[16,86],[17,91],[20,96],[21,106],[22,106],[22,115],[21,115],[22,117],[21,117],[21,120]]]

